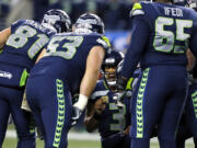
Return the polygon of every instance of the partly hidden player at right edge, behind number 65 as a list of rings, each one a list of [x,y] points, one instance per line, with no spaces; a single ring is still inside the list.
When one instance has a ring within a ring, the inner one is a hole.
[[[189,89],[187,100],[185,103],[184,112],[181,118],[178,130],[176,134],[177,148],[185,148],[185,140],[193,137],[195,148],[197,148],[197,81],[196,81],[196,59],[190,50],[187,50],[188,65],[187,70],[189,71]],[[195,67],[194,67],[195,66]]]

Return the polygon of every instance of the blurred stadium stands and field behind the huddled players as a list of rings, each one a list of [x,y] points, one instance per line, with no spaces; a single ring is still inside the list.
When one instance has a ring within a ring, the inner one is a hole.
[[[19,19],[33,19],[40,22],[49,9],[63,9],[72,23],[84,12],[99,14],[105,23],[106,36],[115,49],[125,53],[129,41],[129,11],[137,0],[0,0],[0,31]],[[9,125],[3,148],[14,148],[16,134]],[[37,148],[43,148],[43,140],[37,139]],[[88,134],[82,123],[69,134],[68,148],[100,148],[97,133]],[[159,148],[157,138],[151,140],[151,148]],[[193,140],[186,141],[186,148],[194,148]]]

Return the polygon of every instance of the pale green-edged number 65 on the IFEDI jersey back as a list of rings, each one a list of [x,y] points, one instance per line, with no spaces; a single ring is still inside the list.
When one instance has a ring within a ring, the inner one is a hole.
[[[174,25],[176,27],[176,32],[166,31],[165,26]],[[182,54],[185,53],[188,48],[188,39],[190,37],[189,34],[185,33],[185,29],[189,29],[193,26],[193,21],[190,20],[179,20],[179,19],[171,19],[159,16],[155,20],[155,36],[153,46],[155,50],[164,52],[164,53],[173,53]],[[175,41],[184,43],[184,46],[179,46],[175,44]]]

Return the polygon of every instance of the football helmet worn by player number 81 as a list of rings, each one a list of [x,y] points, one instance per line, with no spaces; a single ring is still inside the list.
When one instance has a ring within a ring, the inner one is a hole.
[[[71,31],[70,16],[62,10],[48,10],[43,18],[42,24],[46,27],[55,29],[57,33]]]

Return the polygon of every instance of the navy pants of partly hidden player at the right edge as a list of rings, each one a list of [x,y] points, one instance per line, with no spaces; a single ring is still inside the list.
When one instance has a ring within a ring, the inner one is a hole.
[[[185,148],[185,140],[190,137],[194,137],[197,147],[197,83],[189,86],[185,111],[177,132],[177,147]]]

